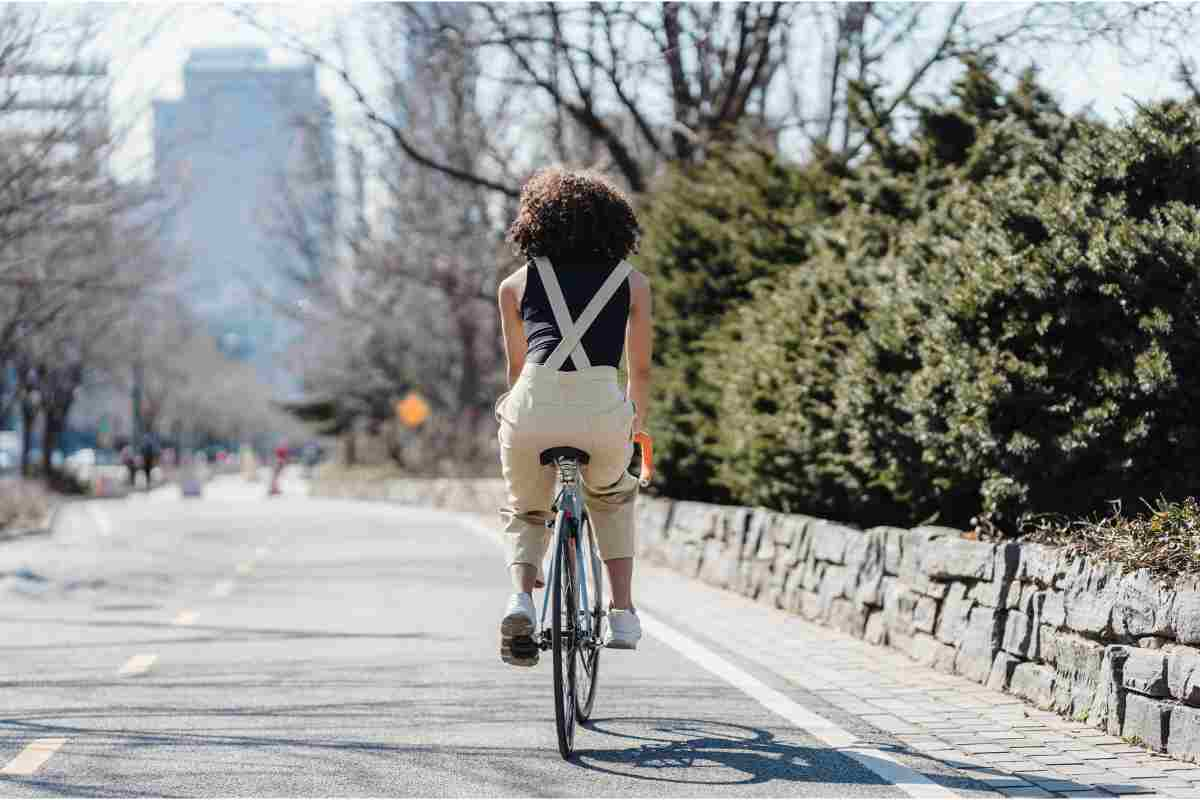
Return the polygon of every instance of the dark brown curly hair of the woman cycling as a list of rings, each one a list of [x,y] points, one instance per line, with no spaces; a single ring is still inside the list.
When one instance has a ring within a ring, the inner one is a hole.
[[[616,264],[637,252],[638,234],[634,209],[607,178],[547,167],[521,188],[508,240],[526,258]]]

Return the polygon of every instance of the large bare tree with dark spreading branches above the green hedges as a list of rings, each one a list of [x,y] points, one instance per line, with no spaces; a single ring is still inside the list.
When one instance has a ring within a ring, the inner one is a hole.
[[[420,19],[419,6],[373,7],[367,28],[388,30],[378,25],[382,17]],[[368,124],[414,164],[509,198],[523,170],[514,169],[514,149],[496,145],[520,137],[526,158],[516,162],[527,163],[530,150],[539,151],[528,146],[535,131],[559,158],[598,162],[638,193],[660,163],[701,158],[733,136],[775,146],[796,132],[822,155],[852,160],[875,130],[902,122],[916,103],[944,91],[947,71],[965,56],[1003,56],[1014,72],[1048,44],[1085,49],[1103,41],[1130,58],[1160,56],[1163,48],[1183,53],[1195,22],[1193,4],[1160,2],[476,2],[460,10],[425,35],[474,54],[488,91],[520,109],[510,128],[488,137],[492,146],[481,152],[492,157],[469,168],[413,136],[403,106],[372,96],[346,59],[265,25],[252,10],[238,13],[329,68]]]

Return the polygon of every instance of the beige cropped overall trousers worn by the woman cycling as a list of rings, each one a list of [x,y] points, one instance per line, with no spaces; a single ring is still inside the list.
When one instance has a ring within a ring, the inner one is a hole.
[[[509,564],[538,566],[545,555],[557,473],[540,456],[550,447],[578,447],[590,456],[583,489],[600,558],[632,558],[637,479],[626,468],[634,453],[634,404],[617,369],[559,372],[527,363],[512,390],[496,402],[496,419],[509,493],[500,509]]]

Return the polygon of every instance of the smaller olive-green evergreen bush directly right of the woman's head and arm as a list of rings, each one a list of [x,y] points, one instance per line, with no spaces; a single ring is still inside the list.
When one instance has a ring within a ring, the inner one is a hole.
[[[833,179],[755,151],[677,168],[647,199],[638,265],[654,287],[659,480],[679,499],[728,500],[713,482],[719,383],[701,374],[706,335],[749,284],[808,258],[812,219],[833,209]]]

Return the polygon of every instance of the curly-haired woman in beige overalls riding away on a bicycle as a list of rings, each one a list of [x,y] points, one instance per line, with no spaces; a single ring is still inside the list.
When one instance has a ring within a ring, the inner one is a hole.
[[[558,167],[524,185],[509,229],[509,241],[527,259],[500,284],[499,297],[509,391],[497,401],[496,416],[514,588],[500,621],[500,657],[510,664],[538,663],[528,639],[554,499],[554,467],[539,458],[548,447],[577,447],[590,457],[583,486],[612,587],[608,646],[632,650],[642,636],[630,585],[637,479],[626,467],[632,434],[650,407],[650,284],[624,260],[638,233],[629,201],[607,179]],[[623,351],[625,391],[617,378]],[[514,642],[526,645],[518,656]]]

